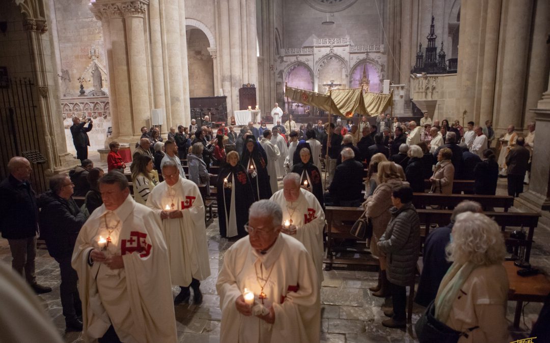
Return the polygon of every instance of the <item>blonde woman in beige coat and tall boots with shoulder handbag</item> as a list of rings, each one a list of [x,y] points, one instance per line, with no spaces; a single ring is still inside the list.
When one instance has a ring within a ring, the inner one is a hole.
[[[375,192],[367,198],[363,207],[368,218],[372,221],[372,238],[370,242],[371,253],[378,257],[380,271],[378,273],[378,284],[369,288],[378,297],[389,295],[388,280],[386,278],[386,255],[378,250],[377,243],[386,231],[389,220],[392,218],[389,209],[392,207],[392,189],[399,185],[409,185],[404,181],[393,162],[380,162],[378,164],[378,179],[380,183]]]

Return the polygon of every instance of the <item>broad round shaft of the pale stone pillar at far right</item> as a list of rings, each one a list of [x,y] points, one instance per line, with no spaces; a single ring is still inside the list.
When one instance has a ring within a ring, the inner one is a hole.
[[[497,133],[505,132],[510,124],[518,128],[521,126],[529,51],[529,40],[526,37],[530,36],[532,6],[532,1],[503,1],[501,32],[504,36],[499,38],[499,57],[502,58],[499,58],[497,64],[496,84],[499,89],[496,92],[494,110],[498,115]],[[461,18],[464,17],[465,15]],[[463,46],[464,44],[460,44],[460,47]]]

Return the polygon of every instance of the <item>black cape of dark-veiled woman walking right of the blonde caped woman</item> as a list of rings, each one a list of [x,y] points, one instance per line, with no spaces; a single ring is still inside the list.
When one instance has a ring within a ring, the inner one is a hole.
[[[249,175],[254,192],[254,200],[270,199],[273,194],[271,193],[270,176],[267,174],[266,153],[257,141],[254,142],[252,153],[246,149],[245,145],[243,154],[241,154],[240,164],[248,170],[251,160],[254,161],[254,169],[256,170],[256,177]]]

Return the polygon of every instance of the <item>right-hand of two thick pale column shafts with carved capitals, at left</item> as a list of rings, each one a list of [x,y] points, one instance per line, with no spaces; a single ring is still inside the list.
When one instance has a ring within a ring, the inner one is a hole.
[[[145,57],[144,15],[146,5],[141,1],[134,1],[122,4],[121,9],[124,15],[128,46],[133,133],[136,138],[139,138],[141,136],[140,128],[152,125]]]

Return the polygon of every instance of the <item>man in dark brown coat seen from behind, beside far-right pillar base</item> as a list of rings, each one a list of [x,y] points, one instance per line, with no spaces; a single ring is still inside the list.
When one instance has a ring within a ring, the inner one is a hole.
[[[525,138],[518,137],[516,144],[506,156],[508,166],[508,195],[519,196],[523,192],[523,179],[529,165],[530,153],[524,147]]]

